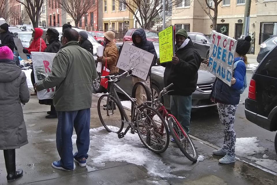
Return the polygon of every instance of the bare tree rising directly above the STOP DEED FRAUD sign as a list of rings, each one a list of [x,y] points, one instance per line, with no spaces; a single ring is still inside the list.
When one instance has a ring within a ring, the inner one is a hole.
[[[218,5],[223,0],[213,0],[214,5],[213,7],[209,5],[209,1],[205,0],[205,3],[201,3],[200,0],[197,0],[197,2],[201,5],[201,8],[204,10],[204,12],[209,16],[209,18],[212,20],[213,23],[213,30],[216,30],[217,28],[217,14],[218,14]],[[206,7],[208,7],[206,10]],[[214,12],[214,15],[211,14],[211,10]]]

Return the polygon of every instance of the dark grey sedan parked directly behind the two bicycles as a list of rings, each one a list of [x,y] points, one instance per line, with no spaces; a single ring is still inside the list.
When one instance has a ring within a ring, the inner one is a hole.
[[[132,44],[132,42],[127,42]],[[117,49],[120,50],[122,47],[123,42],[117,42]],[[156,53],[159,53],[159,42],[153,42]],[[158,54],[159,57],[159,54]],[[153,95],[154,97],[158,96],[158,93],[164,88],[164,67],[163,66],[153,66],[151,68],[151,84],[153,88]],[[122,74],[124,71],[119,70],[119,73]],[[98,78],[93,81],[93,89],[96,92],[103,92],[102,86],[100,86],[100,76],[98,74]],[[197,88],[195,92],[192,94],[192,108],[203,108],[209,106],[216,106],[210,100],[210,94],[212,92],[212,86],[214,84],[216,77],[212,75],[212,73],[204,70],[198,71],[198,81],[197,81]],[[125,90],[129,95],[132,95],[132,77],[125,77],[122,78],[119,82],[117,82],[123,90]],[[165,95],[163,97],[164,106],[166,109],[170,109],[170,97]]]

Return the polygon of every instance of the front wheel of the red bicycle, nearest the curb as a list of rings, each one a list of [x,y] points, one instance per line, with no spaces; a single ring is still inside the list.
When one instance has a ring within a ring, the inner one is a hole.
[[[177,123],[173,117],[169,118],[168,127],[171,135],[174,138],[176,145],[179,147],[182,153],[191,161],[197,161],[198,154],[192,143],[190,136],[180,123]]]

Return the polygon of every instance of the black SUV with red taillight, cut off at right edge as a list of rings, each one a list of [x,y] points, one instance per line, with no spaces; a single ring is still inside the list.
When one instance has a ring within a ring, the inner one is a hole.
[[[277,130],[277,45],[263,58],[250,80],[245,115],[264,129]],[[277,134],[275,150],[277,153]]]

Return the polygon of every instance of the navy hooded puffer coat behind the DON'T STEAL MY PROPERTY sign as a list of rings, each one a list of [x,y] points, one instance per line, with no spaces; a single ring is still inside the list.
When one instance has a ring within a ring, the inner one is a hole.
[[[141,38],[142,38],[141,43],[136,42],[135,35],[141,36]],[[146,39],[145,31],[143,29],[136,29],[132,35],[132,40],[133,40],[133,44],[132,44],[133,46],[143,49],[144,51],[147,51],[147,52],[155,55],[154,61],[152,63],[152,66],[154,66],[156,64],[156,60],[157,60],[157,53],[156,53],[155,47],[153,45],[153,42]]]

